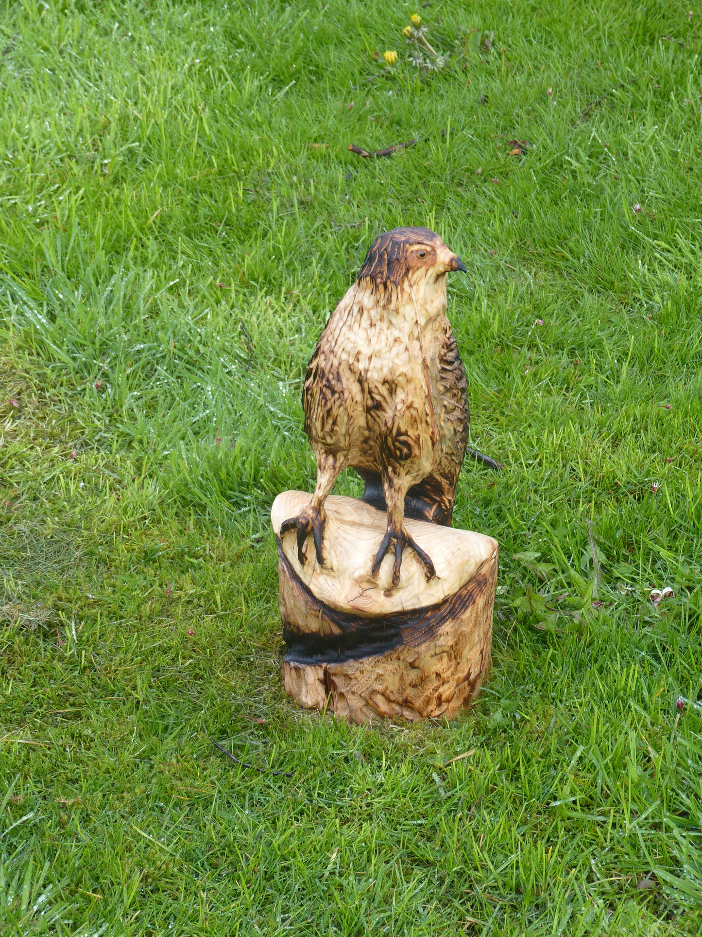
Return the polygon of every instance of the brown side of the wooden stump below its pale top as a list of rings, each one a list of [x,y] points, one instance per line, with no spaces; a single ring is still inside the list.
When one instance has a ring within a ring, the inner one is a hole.
[[[496,551],[443,602],[372,618],[320,602],[278,549],[281,677],[299,706],[362,724],[453,719],[471,705],[490,669]]]

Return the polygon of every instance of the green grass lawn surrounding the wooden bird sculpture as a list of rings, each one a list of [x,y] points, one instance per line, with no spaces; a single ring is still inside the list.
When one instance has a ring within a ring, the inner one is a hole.
[[[690,6],[5,0],[3,934],[700,933]],[[494,658],[461,720],[358,728],[282,691],[268,512],[401,224],[469,270]]]

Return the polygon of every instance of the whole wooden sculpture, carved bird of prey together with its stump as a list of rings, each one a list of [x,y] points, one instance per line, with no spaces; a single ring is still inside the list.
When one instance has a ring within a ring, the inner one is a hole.
[[[314,349],[314,494],[284,492],[271,510],[281,673],[300,706],[357,722],[453,716],[490,667],[497,543],[448,528],[469,409],[446,275],[465,269],[427,228],[380,234]],[[344,468],[362,500],[331,496]]]

